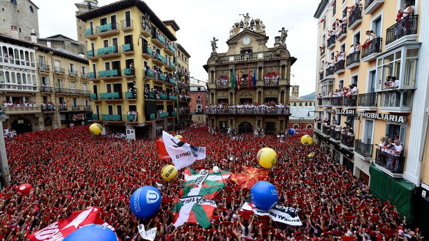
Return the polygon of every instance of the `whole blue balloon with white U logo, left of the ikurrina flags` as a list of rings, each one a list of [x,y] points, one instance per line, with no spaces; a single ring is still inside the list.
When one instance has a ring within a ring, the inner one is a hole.
[[[131,211],[141,219],[152,217],[161,206],[161,194],[153,186],[142,186],[130,198]]]

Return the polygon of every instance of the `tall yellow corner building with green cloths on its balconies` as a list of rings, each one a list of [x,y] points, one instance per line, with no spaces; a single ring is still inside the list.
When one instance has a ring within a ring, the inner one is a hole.
[[[86,22],[94,121],[151,137],[173,130],[182,105],[176,22],[161,21],[141,0],[117,1],[77,18]]]

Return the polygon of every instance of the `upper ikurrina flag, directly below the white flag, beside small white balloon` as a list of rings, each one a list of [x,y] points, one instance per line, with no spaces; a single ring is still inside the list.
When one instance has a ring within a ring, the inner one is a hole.
[[[184,174],[183,189],[179,192],[180,197],[202,196],[213,199],[225,187],[231,171],[220,170],[215,173],[213,170],[202,169],[197,172],[188,167]]]

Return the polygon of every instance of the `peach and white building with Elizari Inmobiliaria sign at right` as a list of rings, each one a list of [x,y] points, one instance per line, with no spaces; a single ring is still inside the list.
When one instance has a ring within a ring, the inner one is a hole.
[[[405,13],[396,21],[398,9]],[[315,111],[328,124],[315,124],[315,139],[369,182],[375,197],[390,200],[412,221],[424,186],[419,159],[429,105],[428,11],[424,0],[321,0],[314,14]],[[396,81],[386,82],[388,76]],[[382,137],[400,145],[382,151]]]

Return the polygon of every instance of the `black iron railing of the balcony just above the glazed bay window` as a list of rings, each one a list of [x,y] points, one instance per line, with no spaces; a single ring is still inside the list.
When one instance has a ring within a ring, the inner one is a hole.
[[[386,30],[386,45],[401,37],[417,34],[418,19],[418,15],[409,15],[388,28]]]

